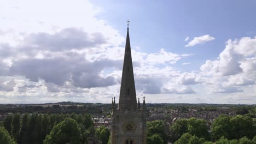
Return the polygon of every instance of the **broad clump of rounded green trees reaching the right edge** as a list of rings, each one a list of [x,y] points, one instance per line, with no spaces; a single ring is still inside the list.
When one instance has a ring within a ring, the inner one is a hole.
[[[203,119],[178,119],[170,128],[169,141],[182,143],[256,143],[256,125],[253,118],[237,115],[220,115],[208,133],[207,122]],[[224,142],[225,143],[225,142]]]

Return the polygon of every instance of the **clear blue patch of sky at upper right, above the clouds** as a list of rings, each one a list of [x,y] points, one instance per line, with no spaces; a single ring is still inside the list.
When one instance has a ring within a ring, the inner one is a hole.
[[[199,68],[207,59],[215,59],[228,39],[254,37],[255,1],[91,1],[103,9],[97,16],[123,33],[127,19],[131,23],[131,43],[143,52],[159,47],[174,53],[193,53],[189,59]],[[121,22],[123,21],[123,22]],[[186,37],[210,34],[211,44],[184,47]],[[186,70],[195,70],[187,65]]]

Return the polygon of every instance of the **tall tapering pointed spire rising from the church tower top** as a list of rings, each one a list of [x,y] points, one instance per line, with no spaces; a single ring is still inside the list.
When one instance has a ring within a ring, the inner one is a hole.
[[[137,109],[135,82],[133,76],[131,45],[129,37],[129,20],[127,20],[127,36],[125,44],[125,56],[123,73],[121,80],[120,96],[118,109],[119,110],[135,110]]]

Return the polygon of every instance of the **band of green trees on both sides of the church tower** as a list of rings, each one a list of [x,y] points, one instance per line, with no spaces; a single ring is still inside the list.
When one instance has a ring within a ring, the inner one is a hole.
[[[164,121],[147,122],[147,143],[164,144],[209,144],[209,143],[256,143],[256,125],[248,116],[230,117],[220,115],[213,123],[211,132],[209,123],[204,119],[178,119],[171,127],[171,133],[165,133]],[[0,123],[0,141],[2,136],[9,143],[110,143],[110,131],[104,126],[95,129],[91,116],[70,114],[25,114],[8,115]],[[3,129],[4,128],[4,129]],[[2,130],[2,131],[1,131]],[[9,135],[9,137],[8,137]],[[15,142],[16,141],[16,142]],[[1,143],[2,144],[2,143]],[[5,144],[5,143],[4,143]]]

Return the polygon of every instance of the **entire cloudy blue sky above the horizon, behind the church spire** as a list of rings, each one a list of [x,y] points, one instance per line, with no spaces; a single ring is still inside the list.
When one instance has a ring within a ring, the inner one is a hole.
[[[1,103],[119,98],[126,21],[137,98],[256,103],[255,1],[5,1]]]

